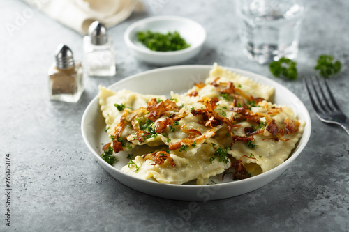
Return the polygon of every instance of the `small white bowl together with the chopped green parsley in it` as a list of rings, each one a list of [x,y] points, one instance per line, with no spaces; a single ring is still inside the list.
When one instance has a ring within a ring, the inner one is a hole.
[[[156,16],[131,24],[124,40],[136,59],[155,65],[174,65],[199,54],[206,31],[188,18]]]

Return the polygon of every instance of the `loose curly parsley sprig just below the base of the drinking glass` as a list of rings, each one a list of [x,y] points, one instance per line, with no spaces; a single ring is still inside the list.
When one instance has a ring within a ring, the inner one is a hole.
[[[284,77],[286,79],[297,79],[297,63],[291,59],[281,57],[279,61],[273,61],[269,64],[269,70],[274,77]]]

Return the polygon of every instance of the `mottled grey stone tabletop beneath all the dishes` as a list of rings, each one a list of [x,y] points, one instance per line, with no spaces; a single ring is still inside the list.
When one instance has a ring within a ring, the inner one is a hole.
[[[321,123],[309,105],[302,78],[313,73],[319,54],[334,54],[342,72],[330,85],[349,116],[349,2],[312,0],[304,20],[297,57],[301,77],[276,79],[267,65],[248,61],[240,47],[232,1],[144,1],[146,13],[131,15],[110,29],[117,51],[117,75],[84,77],[77,104],[51,102],[47,69],[64,42],[82,59],[82,36],[34,10],[9,33],[29,8],[22,1],[0,1],[0,231],[348,231],[349,137],[338,126]],[[154,7],[154,2],[156,7]],[[137,61],[123,40],[126,28],[151,15],[191,18],[207,30],[205,47],[187,64],[220,65],[265,75],[293,91],[312,120],[309,144],[279,178],[230,199],[191,202],[158,199],[112,178],[82,140],[84,109],[98,93],[129,75],[157,68]],[[6,223],[5,158],[11,158],[10,213]]]

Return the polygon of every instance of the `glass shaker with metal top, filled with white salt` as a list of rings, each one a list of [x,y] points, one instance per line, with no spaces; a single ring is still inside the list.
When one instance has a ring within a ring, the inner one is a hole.
[[[84,69],[89,76],[107,77],[115,75],[113,41],[101,22],[89,26],[89,35],[84,36]]]

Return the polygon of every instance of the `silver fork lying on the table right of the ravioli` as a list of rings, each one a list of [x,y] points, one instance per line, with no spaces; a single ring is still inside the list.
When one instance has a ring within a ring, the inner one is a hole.
[[[339,109],[327,81],[323,78],[311,77],[304,78],[303,82],[316,116],[322,122],[341,125],[349,134],[349,120]]]

